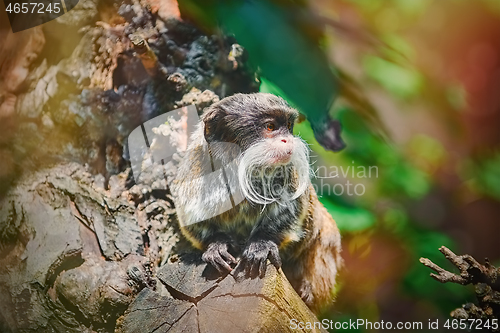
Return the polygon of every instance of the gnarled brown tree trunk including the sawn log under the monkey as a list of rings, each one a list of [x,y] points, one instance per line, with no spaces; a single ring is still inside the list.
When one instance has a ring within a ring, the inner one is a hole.
[[[245,280],[199,262],[161,172],[132,176],[127,137],[144,121],[258,90],[235,40],[157,0],[81,0],[18,34],[0,32],[0,331],[285,332],[316,320],[272,266]]]

